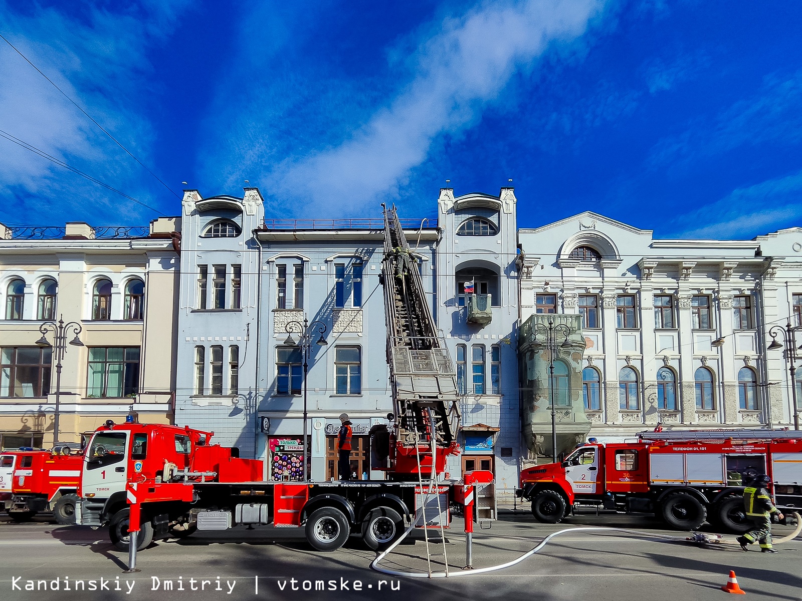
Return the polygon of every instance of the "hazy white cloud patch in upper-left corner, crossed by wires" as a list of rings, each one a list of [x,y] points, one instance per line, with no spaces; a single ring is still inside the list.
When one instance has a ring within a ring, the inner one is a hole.
[[[17,12],[0,0],[0,29],[67,95],[144,163],[154,134],[143,99],[152,67],[147,50],[164,40],[186,0],[142,2],[115,12],[102,6],[67,14],[34,5]],[[50,155],[157,204],[141,167],[46,79],[0,40],[0,128]],[[88,219],[136,223],[154,214],[104,191],[21,147],[0,140],[0,194],[6,221]],[[24,217],[22,217],[24,216]]]

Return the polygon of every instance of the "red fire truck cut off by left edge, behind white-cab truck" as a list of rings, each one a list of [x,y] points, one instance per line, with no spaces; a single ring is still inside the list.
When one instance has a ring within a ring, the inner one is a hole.
[[[6,511],[24,522],[35,514],[52,511],[59,524],[75,523],[78,483],[83,458],[67,446],[53,451],[18,450],[0,455],[0,466],[10,467],[11,490],[6,494]],[[0,467],[4,478],[9,467]]]

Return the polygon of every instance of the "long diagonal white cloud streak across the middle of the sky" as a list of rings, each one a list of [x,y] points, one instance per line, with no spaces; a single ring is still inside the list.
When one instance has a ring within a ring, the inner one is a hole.
[[[222,158],[211,153],[202,164],[236,164],[236,171],[229,173],[230,184],[240,184],[253,171],[269,170],[262,175],[263,191],[283,200],[292,212],[358,214],[368,204],[393,198],[439,135],[470,127],[484,107],[499,99],[513,74],[533,68],[549,46],[581,37],[604,5],[602,0],[483,2],[423,27],[424,37],[403,61],[414,75],[388,97],[362,107],[364,114],[354,115],[361,118],[358,127],[349,131],[348,124],[337,119],[346,131],[328,147],[288,153],[289,158],[276,156],[270,140],[281,136],[265,131],[261,142],[229,145]],[[252,123],[260,112],[277,110],[263,102],[261,107],[249,103]],[[322,139],[330,139],[330,134]],[[273,157],[282,160],[265,168]]]

